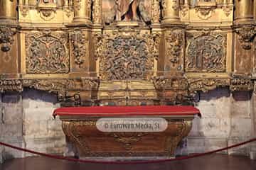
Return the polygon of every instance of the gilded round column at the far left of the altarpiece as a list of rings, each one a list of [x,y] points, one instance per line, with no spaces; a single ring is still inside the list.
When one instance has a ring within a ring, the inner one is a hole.
[[[0,23],[16,23],[16,1],[15,0],[0,0]]]

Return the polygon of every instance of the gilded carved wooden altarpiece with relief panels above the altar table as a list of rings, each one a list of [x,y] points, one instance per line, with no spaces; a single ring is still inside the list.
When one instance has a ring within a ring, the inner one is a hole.
[[[0,8],[3,92],[146,105],[218,86],[254,89],[252,0],[3,0]]]

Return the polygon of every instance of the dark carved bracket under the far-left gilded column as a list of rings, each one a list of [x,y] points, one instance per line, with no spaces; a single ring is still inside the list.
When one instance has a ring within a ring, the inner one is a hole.
[[[8,26],[0,26],[0,45],[3,52],[9,52],[11,45],[14,43],[16,31],[11,30]]]

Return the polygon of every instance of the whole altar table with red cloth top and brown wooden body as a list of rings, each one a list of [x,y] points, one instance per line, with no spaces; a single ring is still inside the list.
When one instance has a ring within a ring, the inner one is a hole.
[[[92,106],[58,108],[68,140],[79,157],[174,157],[179,142],[188,135],[195,115],[193,106]],[[100,118],[164,118],[162,132],[102,132]]]

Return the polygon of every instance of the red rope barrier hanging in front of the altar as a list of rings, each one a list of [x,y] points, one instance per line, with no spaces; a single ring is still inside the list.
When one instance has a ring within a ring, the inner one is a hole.
[[[215,152],[220,152],[220,151],[223,151],[223,150],[226,150],[226,149],[231,149],[233,147],[239,147],[241,145],[245,145],[247,143],[255,142],[255,141],[256,141],[256,138],[251,139],[251,140],[247,140],[245,142],[238,143],[236,145],[231,145],[230,147],[224,147],[222,149],[216,149],[216,150],[201,153],[201,154],[193,154],[191,156],[177,157],[177,158],[174,158],[174,159],[160,159],[160,160],[134,161],[134,162],[132,162],[132,161],[114,162],[114,161],[94,161],[94,160],[73,159],[73,158],[62,157],[62,156],[57,156],[57,155],[53,155],[53,154],[44,154],[44,153],[41,153],[41,152],[36,152],[36,151],[29,150],[29,149],[23,149],[21,147],[15,147],[13,145],[9,145],[9,144],[6,144],[4,142],[0,142],[0,145],[3,145],[5,147],[11,147],[13,149],[18,149],[18,150],[21,150],[23,152],[28,152],[28,153],[31,153],[31,154],[38,154],[38,155],[41,155],[43,157],[50,157],[50,158],[53,158],[53,159],[63,159],[63,160],[71,161],[71,162],[82,162],[82,163],[91,163],[91,164],[154,164],[154,163],[161,163],[161,162],[173,162],[173,161],[176,161],[176,160],[183,160],[183,159],[191,159],[191,158],[194,158],[194,157],[201,157],[201,156],[204,156],[204,155],[207,155],[207,154],[213,154]]]

